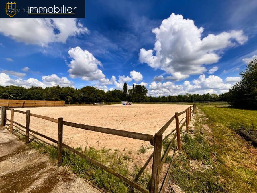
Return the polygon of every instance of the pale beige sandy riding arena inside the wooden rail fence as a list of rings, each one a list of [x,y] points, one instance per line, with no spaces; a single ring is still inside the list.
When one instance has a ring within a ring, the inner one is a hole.
[[[30,113],[44,115],[63,120],[99,126],[105,128],[126,130],[154,135],[174,115],[174,112],[184,111],[189,105],[168,104],[133,104],[133,105],[105,105],[105,106],[64,106],[21,108],[30,110]],[[10,111],[7,111],[10,118]],[[184,116],[180,116],[182,120]],[[14,113],[14,121],[26,125],[26,115]],[[175,128],[175,121],[167,128],[164,136]],[[48,120],[30,116],[30,129],[58,140],[58,124]],[[43,139],[42,137],[39,137]],[[46,140],[46,139],[44,139]],[[63,127],[63,141],[75,148],[85,145],[95,148],[111,148],[128,151],[137,151],[142,145],[150,145],[147,141],[130,139],[110,134],[103,134],[69,126]]]

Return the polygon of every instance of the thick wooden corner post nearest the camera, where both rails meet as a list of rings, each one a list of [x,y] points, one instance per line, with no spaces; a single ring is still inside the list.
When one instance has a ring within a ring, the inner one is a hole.
[[[150,186],[150,193],[159,192],[159,174],[160,174],[160,162],[162,152],[162,134],[156,133],[154,135],[154,155],[152,165],[152,181]]]

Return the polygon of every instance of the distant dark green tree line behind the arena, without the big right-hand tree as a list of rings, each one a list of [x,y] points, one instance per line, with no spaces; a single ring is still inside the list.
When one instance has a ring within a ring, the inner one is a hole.
[[[92,86],[86,86],[81,89],[73,87],[19,87],[19,86],[0,86],[1,99],[17,100],[64,100],[65,102],[193,102],[193,101],[217,101],[227,100],[226,94],[185,94],[178,96],[147,96],[148,89],[142,85],[133,85],[132,89],[127,89],[127,83],[124,83],[123,90],[112,90],[106,93],[103,90]]]

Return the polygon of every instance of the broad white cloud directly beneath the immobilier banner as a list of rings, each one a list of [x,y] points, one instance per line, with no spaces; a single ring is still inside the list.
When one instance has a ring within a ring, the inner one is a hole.
[[[25,44],[48,46],[52,42],[65,43],[68,37],[88,34],[89,30],[73,18],[14,18],[0,20],[0,33]]]

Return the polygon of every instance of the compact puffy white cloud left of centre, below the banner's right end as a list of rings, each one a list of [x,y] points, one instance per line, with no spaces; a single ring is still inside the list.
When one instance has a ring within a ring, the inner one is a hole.
[[[103,71],[98,69],[98,66],[102,66],[101,62],[89,51],[76,47],[71,48],[68,53],[72,58],[72,61],[68,64],[70,67],[68,72],[71,78],[79,77],[82,80],[100,80],[105,78]]]

